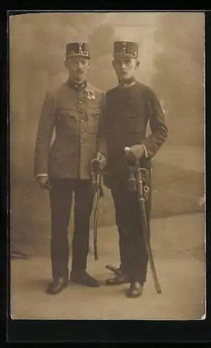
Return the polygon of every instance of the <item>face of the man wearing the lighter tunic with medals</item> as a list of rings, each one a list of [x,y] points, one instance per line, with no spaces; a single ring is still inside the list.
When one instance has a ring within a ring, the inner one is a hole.
[[[82,56],[71,56],[65,60],[65,67],[68,69],[70,79],[84,81],[88,72],[90,61]]]

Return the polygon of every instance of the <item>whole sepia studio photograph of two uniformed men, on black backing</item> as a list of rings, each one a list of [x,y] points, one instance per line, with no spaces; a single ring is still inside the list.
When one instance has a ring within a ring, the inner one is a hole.
[[[10,317],[205,319],[204,13],[15,12]]]

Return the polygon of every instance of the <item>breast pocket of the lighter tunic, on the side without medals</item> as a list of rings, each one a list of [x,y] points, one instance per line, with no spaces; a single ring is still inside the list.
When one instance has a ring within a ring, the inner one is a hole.
[[[58,114],[58,121],[61,122],[68,134],[79,134],[79,120],[77,111],[61,109]]]

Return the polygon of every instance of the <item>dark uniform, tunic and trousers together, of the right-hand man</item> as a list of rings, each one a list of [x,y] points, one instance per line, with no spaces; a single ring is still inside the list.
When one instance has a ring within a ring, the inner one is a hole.
[[[146,137],[148,122],[151,134]],[[162,107],[148,86],[136,81],[133,86],[117,86],[107,92],[106,173],[116,210],[121,268],[131,280],[140,283],[146,280],[148,257],[141,233],[136,191],[128,191],[124,148],[136,144],[145,145],[148,159],[143,157],[142,166],[150,168],[151,159],[166,140],[167,132]],[[146,184],[150,187],[150,169],[146,175]],[[149,223],[150,194],[146,211]]]

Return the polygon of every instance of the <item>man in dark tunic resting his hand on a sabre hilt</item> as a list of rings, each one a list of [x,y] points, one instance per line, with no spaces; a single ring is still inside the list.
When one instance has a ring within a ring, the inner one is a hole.
[[[151,184],[151,159],[167,137],[164,113],[151,88],[136,81],[139,68],[139,45],[136,42],[114,42],[113,66],[118,86],[107,92],[106,134],[107,166],[104,183],[111,189],[119,232],[120,267],[107,285],[130,283],[127,296],[140,296],[146,281],[146,253],[136,191],[128,189],[128,166],[137,159],[148,169],[146,184]],[[150,125],[151,134],[146,136]],[[130,151],[125,155],[124,148]],[[126,161],[127,160],[127,161]],[[150,191],[146,203],[150,223]]]

